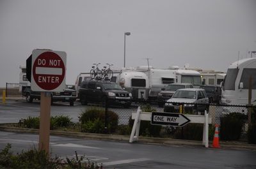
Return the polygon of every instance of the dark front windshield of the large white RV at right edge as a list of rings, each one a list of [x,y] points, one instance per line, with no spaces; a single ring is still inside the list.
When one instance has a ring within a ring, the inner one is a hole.
[[[239,69],[228,69],[227,75],[224,80],[224,90],[235,90],[235,82]]]

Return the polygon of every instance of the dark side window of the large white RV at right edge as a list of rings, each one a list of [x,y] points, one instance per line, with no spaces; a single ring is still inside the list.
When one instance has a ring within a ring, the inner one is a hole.
[[[256,69],[245,68],[242,73],[240,83],[243,82],[244,88],[249,89],[249,75],[252,75],[252,89],[256,89]]]

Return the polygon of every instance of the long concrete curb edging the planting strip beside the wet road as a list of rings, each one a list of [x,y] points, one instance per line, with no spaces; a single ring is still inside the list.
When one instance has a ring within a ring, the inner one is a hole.
[[[4,126],[0,126],[0,131],[39,134],[39,129],[11,128],[11,127],[4,127]],[[130,139],[130,136],[124,136],[124,135],[76,133],[76,132],[68,132],[68,131],[50,131],[50,135],[90,138],[90,139],[99,139],[99,140],[116,140],[116,141],[125,141],[125,142],[129,142],[129,139]],[[166,144],[166,145],[193,145],[193,146],[204,147],[204,145],[202,145],[202,142],[200,141],[177,140],[177,139],[170,139],[170,138],[150,138],[150,137],[140,136],[138,139],[138,142],[157,143],[157,144]],[[212,142],[209,142],[209,145],[212,145]],[[253,145],[253,144],[221,142],[220,147],[230,148],[230,149],[248,149],[248,150],[256,151],[256,145]]]

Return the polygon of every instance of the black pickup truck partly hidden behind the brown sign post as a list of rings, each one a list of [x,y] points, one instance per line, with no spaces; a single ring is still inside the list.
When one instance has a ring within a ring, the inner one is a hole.
[[[31,103],[33,99],[40,100],[41,98],[41,92],[32,91],[30,86],[22,91],[22,95],[26,97],[28,103]],[[63,92],[51,92],[51,95],[51,103],[55,101],[69,102],[70,106],[74,106],[74,101],[77,99],[76,91],[68,87]]]

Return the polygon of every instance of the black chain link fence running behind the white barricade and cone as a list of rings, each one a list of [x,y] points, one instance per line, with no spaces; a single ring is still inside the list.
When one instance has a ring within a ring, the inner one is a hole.
[[[159,107],[159,105],[161,104],[156,101],[132,100],[131,107],[120,108],[108,105],[107,102],[106,111],[115,112],[118,115],[118,125],[129,126],[129,131],[131,132],[133,125],[131,115],[132,112],[137,112],[138,107],[141,107],[142,112],[173,112],[195,115],[204,115],[205,112],[202,111],[202,109],[200,110],[200,107],[205,107],[209,116],[212,117],[212,124],[209,124],[209,139],[213,139],[216,124],[218,124],[220,141],[223,142],[248,142],[249,126],[250,124],[256,124],[255,106],[173,103],[175,108],[166,108],[166,106]],[[165,105],[165,103],[162,105]],[[108,115],[108,113],[106,115]],[[108,118],[106,117],[106,119]],[[140,136],[202,141],[203,128],[204,124],[189,123],[183,127],[175,127],[152,125],[150,121],[141,121]],[[256,131],[256,128],[253,129],[253,131]],[[127,135],[131,135],[131,133]],[[252,136],[256,138],[256,133],[252,133]]]

